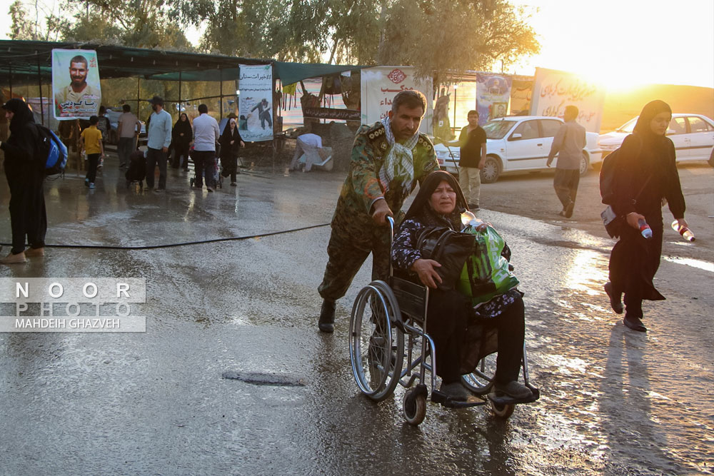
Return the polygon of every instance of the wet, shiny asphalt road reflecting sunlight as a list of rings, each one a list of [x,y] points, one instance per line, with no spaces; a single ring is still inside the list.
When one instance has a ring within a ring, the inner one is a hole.
[[[169,191],[157,194],[126,189],[111,159],[105,167],[94,191],[72,173],[49,184],[47,243],[157,245],[318,227],[156,250],[48,248],[1,267],[0,277],[146,278],[147,331],[0,335],[0,474],[714,472],[714,259],[663,260],[656,284],[668,300],[647,305],[643,335],[625,330],[601,288],[612,241],[484,209],[513,249],[542,397],[506,422],[487,407],[430,403],[411,427],[403,389],[375,405],[351,375],[348,318],[368,264],[338,303],[335,334],[316,330],[329,237],[319,225],[341,176],[256,171],[209,194],[170,171]],[[3,243],[7,201],[2,178]],[[689,256],[685,245],[671,248]],[[253,385],[226,372],[304,385]]]

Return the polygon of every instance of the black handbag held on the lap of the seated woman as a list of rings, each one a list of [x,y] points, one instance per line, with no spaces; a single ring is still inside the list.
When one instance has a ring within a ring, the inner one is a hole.
[[[441,277],[437,283],[439,290],[451,290],[456,285],[471,253],[475,238],[471,233],[459,233],[451,228],[437,227],[422,230],[416,238],[416,249],[421,252],[421,257],[435,260],[441,267],[436,272]]]

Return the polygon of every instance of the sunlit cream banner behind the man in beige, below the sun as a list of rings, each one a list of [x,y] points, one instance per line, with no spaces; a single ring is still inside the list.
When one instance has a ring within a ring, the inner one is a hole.
[[[563,118],[565,106],[577,106],[578,123],[586,131],[600,133],[605,90],[582,76],[536,68],[531,114]]]

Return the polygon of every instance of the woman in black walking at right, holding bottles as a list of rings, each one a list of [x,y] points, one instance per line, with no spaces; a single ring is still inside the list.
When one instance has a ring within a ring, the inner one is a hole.
[[[613,209],[625,217],[627,226],[610,254],[610,280],[605,283],[605,292],[618,314],[623,312],[620,299],[624,293],[623,323],[640,332],[647,330],[641,320],[642,301],[665,299],[652,282],[662,253],[663,199],[680,226],[687,226],[674,144],[665,136],[671,119],[672,109],[664,101],[645,105],[633,134],[623,141],[615,177]],[[652,228],[652,238],[640,234],[640,220]]]

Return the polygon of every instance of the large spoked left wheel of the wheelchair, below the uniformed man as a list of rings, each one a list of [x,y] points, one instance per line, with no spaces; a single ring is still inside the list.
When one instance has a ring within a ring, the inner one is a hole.
[[[357,295],[350,319],[352,373],[362,393],[379,402],[401,376],[404,336],[394,325],[399,306],[391,288],[373,281]]]

